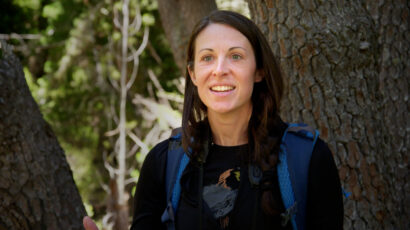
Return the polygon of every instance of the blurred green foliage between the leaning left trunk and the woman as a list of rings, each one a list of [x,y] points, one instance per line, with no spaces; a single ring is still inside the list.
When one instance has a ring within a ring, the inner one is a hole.
[[[161,130],[169,129],[169,117],[147,121],[147,113],[141,111],[151,110],[146,105],[132,102],[138,94],[158,104],[160,96],[155,87],[151,87],[153,93],[147,87],[152,85],[148,69],[158,77],[167,94],[179,97],[179,100],[181,95],[174,80],[180,77],[180,73],[157,20],[157,2],[130,2],[131,16],[135,15],[138,4],[142,28],[149,27],[150,48],[140,56],[137,80],[130,89],[127,102],[127,128],[144,137],[154,124],[159,124]],[[120,1],[13,0],[2,3],[0,8],[0,33],[41,35],[40,39],[24,43],[19,40],[9,42],[22,51],[19,55],[33,97],[65,149],[87,211],[96,216],[102,211],[93,206],[104,205],[106,195],[100,182],[108,182],[102,155],[114,148],[106,133],[115,128],[113,112],[119,107],[118,92],[110,84],[120,78],[116,60],[120,47],[115,42],[121,40],[121,33],[113,25],[114,8],[121,11]],[[129,42],[138,47],[142,38],[143,29]],[[111,42],[113,46],[110,46]],[[156,105],[156,115],[168,114],[180,119],[180,112],[175,111],[179,104],[171,102],[171,105],[172,108]],[[154,143],[151,139],[143,141],[149,147]],[[132,146],[131,142],[128,144]],[[140,166],[145,155],[145,150],[139,150],[130,163]],[[137,168],[132,176],[138,178],[138,175]]]

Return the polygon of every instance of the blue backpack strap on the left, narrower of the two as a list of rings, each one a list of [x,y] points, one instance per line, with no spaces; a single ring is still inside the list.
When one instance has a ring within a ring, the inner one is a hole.
[[[175,213],[181,195],[181,185],[179,181],[188,163],[189,158],[182,148],[181,133],[179,132],[169,138],[167,152],[165,175],[167,207],[161,216],[161,221],[166,223],[168,230],[175,229]]]

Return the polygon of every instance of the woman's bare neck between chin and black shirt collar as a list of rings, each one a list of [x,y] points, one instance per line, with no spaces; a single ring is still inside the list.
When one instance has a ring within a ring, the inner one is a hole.
[[[251,114],[252,107],[243,114],[217,114],[208,111],[213,142],[222,146],[248,143],[248,124]]]

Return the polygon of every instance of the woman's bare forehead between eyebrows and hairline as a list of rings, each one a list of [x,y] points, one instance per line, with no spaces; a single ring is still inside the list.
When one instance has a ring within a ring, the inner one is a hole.
[[[198,34],[195,40],[196,51],[203,48],[214,49],[235,46],[252,49],[245,35],[229,25],[219,23],[209,24]]]

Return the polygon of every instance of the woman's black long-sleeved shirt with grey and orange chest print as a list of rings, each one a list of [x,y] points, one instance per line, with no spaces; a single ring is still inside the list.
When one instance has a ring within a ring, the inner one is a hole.
[[[203,229],[251,229],[252,224],[256,225],[255,229],[291,229],[289,224],[281,226],[279,216],[265,215],[260,208],[260,192],[252,188],[248,166],[241,163],[241,155],[247,149],[247,145],[211,147],[204,165]],[[144,161],[134,197],[131,229],[166,229],[160,218],[166,206],[167,151],[168,140],[165,140]],[[182,175],[177,229],[198,229],[198,171],[189,163]],[[340,180],[332,154],[320,139],[312,153],[308,180],[307,229],[342,229]],[[278,189],[273,191],[280,196]]]

